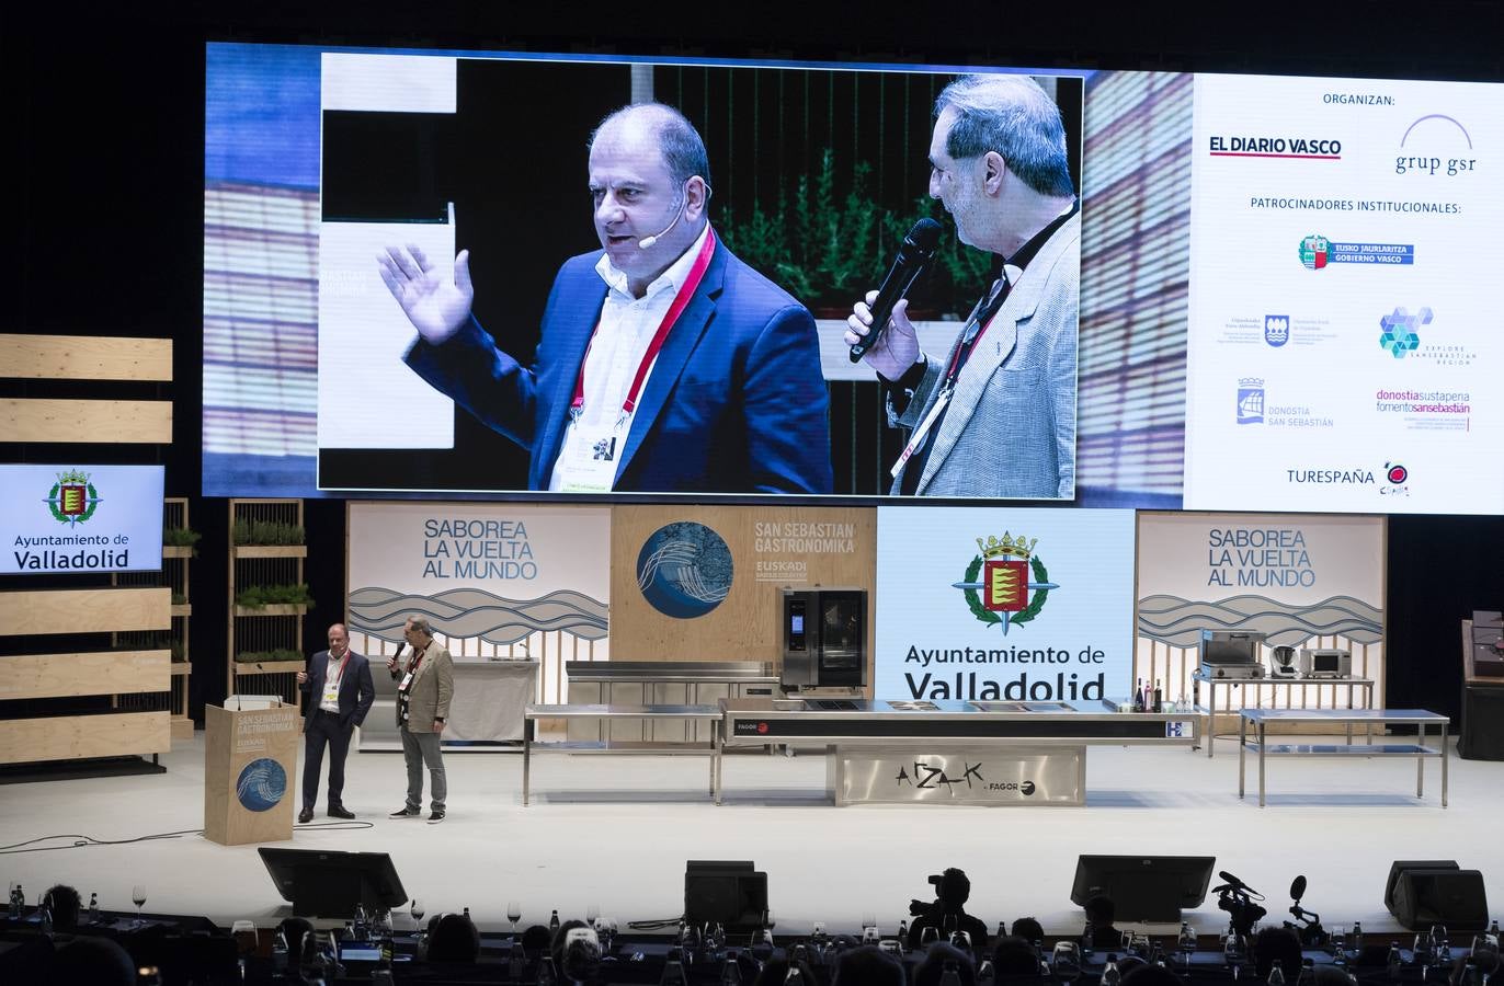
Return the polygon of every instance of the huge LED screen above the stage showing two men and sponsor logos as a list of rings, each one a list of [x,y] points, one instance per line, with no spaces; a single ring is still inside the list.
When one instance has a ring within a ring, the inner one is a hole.
[[[951,140],[967,72],[1063,182]],[[205,495],[1504,513],[1498,87],[209,45],[206,92]],[[654,125],[656,189],[591,143],[642,102],[704,144]],[[845,319],[922,218],[884,380]]]

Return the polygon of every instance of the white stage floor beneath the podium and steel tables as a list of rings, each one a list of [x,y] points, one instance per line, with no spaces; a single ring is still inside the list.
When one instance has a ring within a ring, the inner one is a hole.
[[[1287,740],[1281,736],[1281,740]],[[1292,738],[1289,738],[1292,740]],[[1324,740],[1330,743],[1331,740]],[[447,756],[450,815],[442,825],[388,821],[403,801],[402,756],[350,750],[344,804],[371,828],[301,828],[301,849],[390,852],[409,896],[430,912],[469,906],[483,930],[507,927],[520,900],[523,924],[558,908],[590,905],[627,921],[683,909],[684,860],[754,860],[769,875],[779,933],[857,927],[872,911],[886,930],[910,897],[929,897],[925,876],[960,866],[972,878],[969,911],[996,926],[1036,915],[1051,935],[1080,930],[1071,905],[1075,857],[1215,855],[1265,893],[1268,920],[1286,915],[1290,881],[1304,873],[1304,905],[1324,923],[1396,927],[1384,879],[1397,858],[1454,858],[1483,870],[1490,908],[1504,914],[1504,764],[1451,758],[1450,807],[1441,807],[1436,761],[1415,798],[1414,761],[1269,761],[1269,806],[1238,798],[1235,743],[1205,750],[1093,747],[1086,807],[860,806],[823,801],[824,758],[743,755],[726,761],[726,804],[707,791],[702,758],[564,756],[532,761],[532,804],[522,807],[517,753]],[[203,733],[162,756],[165,774],[0,788],[0,845],[77,833],[126,840],[203,824]],[[292,797],[298,797],[293,794]],[[62,840],[44,845],[63,845]],[[191,834],[114,846],[0,855],[0,876],[29,899],[53,882],[87,900],[131,909],[131,885],[149,888],[147,911],[206,914],[221,924],[269,924],[289,909],[254,846],[226,848]],[[1215,897],[1188,915],[1203,933],[1226,926]]]

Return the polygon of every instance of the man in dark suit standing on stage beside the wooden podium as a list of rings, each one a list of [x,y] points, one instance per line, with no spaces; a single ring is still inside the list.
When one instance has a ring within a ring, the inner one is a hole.
[[[313,806],[319,801],[319,771],[323,747],[329,747],[329,818],[355,818],[344,809],[344,755],[350,750],[350,735],[365,721],[365,712],[376,700],[371,667],[362,655],[350,649],[344,624],[329,627],[329,649],[308,658],[308,670],[298,672],[302,702],[302,812],[299,822],[313,821]]]

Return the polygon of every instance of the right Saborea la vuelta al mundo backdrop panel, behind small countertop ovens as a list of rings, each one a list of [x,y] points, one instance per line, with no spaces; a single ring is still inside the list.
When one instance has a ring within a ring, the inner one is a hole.
[[[1269,646],[1351,649],[1354,675],[1378,682],[1382,708],[1384,541],[1384,517],[1140,514],[1134,673],[1164,679],[1170,697],[1190,696],[1203,628],[1259,630]],[[1248,706],[1348,703],[1339,685],[1221,691]]]

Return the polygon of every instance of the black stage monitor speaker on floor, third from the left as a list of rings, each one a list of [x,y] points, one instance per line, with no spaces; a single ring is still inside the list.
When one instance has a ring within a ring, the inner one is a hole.
[[[1071,902],[1102,894],[1122,921],[1179,921],[1206,899],[1217,857],[1083,855],[1075,861]]]

